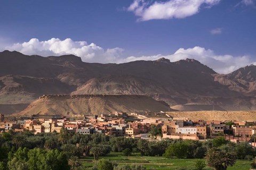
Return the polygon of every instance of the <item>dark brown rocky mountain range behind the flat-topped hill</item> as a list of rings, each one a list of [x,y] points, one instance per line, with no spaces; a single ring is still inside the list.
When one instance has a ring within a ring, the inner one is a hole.
[[[0,112],[17,113],[39,96],[60,94],[147,95],[171,106],[199,103],[250,110],[256,104],[255,67],[224,75],[193,59],[99,64],[74,55],[5,50],[0,52]]]

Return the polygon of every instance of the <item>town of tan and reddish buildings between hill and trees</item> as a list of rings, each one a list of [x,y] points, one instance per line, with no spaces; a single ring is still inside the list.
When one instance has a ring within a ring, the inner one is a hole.
[[[151,116],[148,116],[151,115]],[[153,117],[152,117],[153,115]],[[164,112],[130,115],[123,112],[69,118],[62,115],[33,115],[13,117],[0,114],[0,132],[30,131],[37,133],[60,133],[65,128],[69,133],[102,133],[115,137],[142,138],[148,140],[190,139],[207,140],[218,136],[238,143],[252,141],[256,133],[255,122],[188,120],[186,117],[171,117]]]

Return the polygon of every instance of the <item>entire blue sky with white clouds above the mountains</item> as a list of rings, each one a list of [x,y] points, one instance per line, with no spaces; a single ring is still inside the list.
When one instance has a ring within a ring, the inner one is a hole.
[[[256,65],[256,0],[0,0],[0,50],[84,62]]]

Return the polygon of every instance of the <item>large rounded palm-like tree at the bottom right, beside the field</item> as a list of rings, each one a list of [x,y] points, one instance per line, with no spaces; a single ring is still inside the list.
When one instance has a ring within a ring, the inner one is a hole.
[[[236,163],[236,154],[234,152],[226,152],[218,148],[211,148],[206,152],[207,164],[215,170],[226,170],[228,166]]]

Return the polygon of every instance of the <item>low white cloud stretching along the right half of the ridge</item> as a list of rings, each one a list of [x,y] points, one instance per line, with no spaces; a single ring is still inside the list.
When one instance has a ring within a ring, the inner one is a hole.
[[[153,55],[153,56],[140,56],[140,57],[127,57],[123,62],[130,62],[136,60],[157,60],[158,58],[167,58],[171,62],[185,60],[186,58],[194,58],[195,60],[211,67],[218,73],[230,73],[240,67],[254,64],[256,62],[250,56],[232,56],[232,55],[217,55],[211,49],[205,49],[203,47],[194,48],[180,48],[174,54],[171,55]]]

